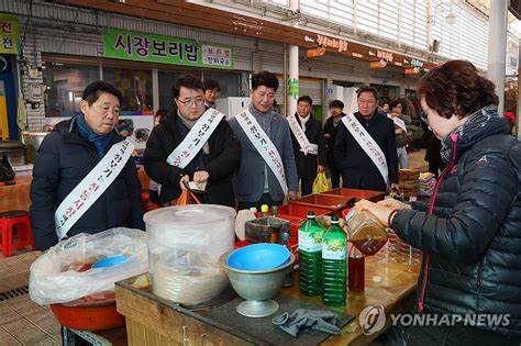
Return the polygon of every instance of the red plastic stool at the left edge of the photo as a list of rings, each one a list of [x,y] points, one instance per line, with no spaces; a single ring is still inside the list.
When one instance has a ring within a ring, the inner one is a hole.
[[[13,235],[14,226],[16,226],[15,235]],[[3,257],[10,257],[11,249],[16,247],[29,245],[34,250],[33,230],[26,211],[13,210],[0,213],[0,231],[2,232],[0,248]],[[13,239],[18,242],[13,243]]]

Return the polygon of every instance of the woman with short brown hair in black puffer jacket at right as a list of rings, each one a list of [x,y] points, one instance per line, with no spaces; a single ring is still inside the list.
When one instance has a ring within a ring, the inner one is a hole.
[[[418,312],[463,319],[452,319],[452,325],[397,326],[383,342],[519,345],[521,143],[499,115],[495,85],[468,62],[452,60],[431,69],[418,93],[448,165],[430,204],[364,200],[356,209],[369,211],[423,252]],[[479,322],[469,325],[466,316],[479,316]],[[480,322],[480,316],[489,322]],[[491,323],[490,316],[508,321]]]

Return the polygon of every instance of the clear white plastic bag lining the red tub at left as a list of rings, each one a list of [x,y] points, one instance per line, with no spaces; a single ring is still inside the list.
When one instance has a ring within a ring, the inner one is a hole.
[[[125,255],[117,266],[77,271],[86,264]],[[110,291],[114,282],[148,270],[146,233],[111,228],[97,234],[78,234],[59,242],[31,265],[29,293],[41,304],[66,303],[81,297]]]

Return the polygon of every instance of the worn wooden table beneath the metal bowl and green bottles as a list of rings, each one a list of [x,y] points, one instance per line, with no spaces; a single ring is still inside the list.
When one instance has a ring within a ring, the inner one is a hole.
[[[340,311],[354,315],[356,320],[343,327],[343,336],[331,336],[322,345],[365,345],[381,334],[383,331],[370,336],[364,335],[358,325],[359,312],[368,305],[384,305],[386,327],[389,327],[389,313],[402,313],[411,308],[420,267],[420,264],[379,264],[376,257],[368,257],[365,291],[348,293],[346,306],[340,308]],[[380,276],[381,282],[373,282],[373,276]],[[182,344],[184,341],[222,345],[258,344],[257,339],[242,331],[207,319],[204,312],[188,311],[158,299],[149,290],[133,288],[133,280],[135,278],[115,284],[118,311],[126,317],[130,345],[169,345]],[[322,305],[320,297],[301,295],[297,282],[289,289],[282,289],[282,294]],[[254,319],[252,323],[255,323]]]

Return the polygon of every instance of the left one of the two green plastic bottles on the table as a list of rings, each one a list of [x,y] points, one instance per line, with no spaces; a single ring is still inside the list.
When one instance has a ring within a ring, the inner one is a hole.
[[[319,295],[322,292],[322,236],[324,228],[314,219],[314,212],[308,212],[299,227],[299,290],[306,295]]]

